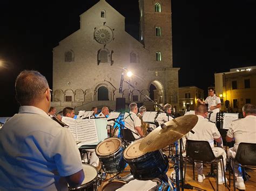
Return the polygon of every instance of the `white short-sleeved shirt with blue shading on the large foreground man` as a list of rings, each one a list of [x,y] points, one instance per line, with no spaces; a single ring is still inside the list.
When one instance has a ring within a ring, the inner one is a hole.
[[[82,167],[75,139],[43,110],[22,106],[0,133],[0,189],[68,190]]]

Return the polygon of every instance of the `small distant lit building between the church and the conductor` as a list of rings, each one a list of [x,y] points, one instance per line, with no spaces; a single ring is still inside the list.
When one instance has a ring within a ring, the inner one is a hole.
[[[204,90],[196,86],[179,87],[179,109],[195,110],[197,99],[204,100]]]

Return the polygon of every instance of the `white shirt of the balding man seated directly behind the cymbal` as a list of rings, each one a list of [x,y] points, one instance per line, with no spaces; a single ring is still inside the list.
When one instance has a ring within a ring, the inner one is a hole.
[[[192,129],[194,134],[188,132],[186,138],[189,140],[206,140],[210,143],[211,147],[214,147],[214,139],[220,138],[220,133],[215,123],[209,122],[203,116],[198,116],[198,122]]]

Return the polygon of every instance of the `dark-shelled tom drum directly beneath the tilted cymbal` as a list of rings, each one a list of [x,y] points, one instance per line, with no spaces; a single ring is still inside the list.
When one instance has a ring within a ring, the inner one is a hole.
[[[124,150],[124,159],[131,167],[131,173],[138,180],[160,178],[169,168],[169,161],[161,150],[142,152],[139,145],[143,139],[131,143]]]

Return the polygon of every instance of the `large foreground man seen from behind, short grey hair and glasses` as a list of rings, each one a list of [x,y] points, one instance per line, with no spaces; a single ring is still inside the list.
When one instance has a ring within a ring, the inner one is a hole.
[[[51,90],[37,71],[15,83],[21,107],[0,133],[1,190],[68,190],[84,180],[80,153],[70,131],[48,116]]]

